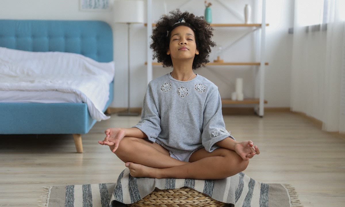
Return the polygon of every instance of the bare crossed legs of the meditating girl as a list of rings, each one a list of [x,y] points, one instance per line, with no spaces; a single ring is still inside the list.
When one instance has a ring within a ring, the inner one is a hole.
[[[184,162],[170,157],[157,143],[133,137],[122,139],[115,154],[126,162],[134,177],[222,179],[245,170],[249,163],[225,148],[213,152],[201,148]]]

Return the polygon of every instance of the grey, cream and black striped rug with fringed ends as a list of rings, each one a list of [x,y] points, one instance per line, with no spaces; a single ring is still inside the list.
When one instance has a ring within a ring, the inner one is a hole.
[[[302,207],[290,185],[264,184],[244,173],[221,180],[135,178],[126,168],[117,183],[44,188],[39,207],[121,207],[135,203],[155,188],[193,188],[235,207]]]

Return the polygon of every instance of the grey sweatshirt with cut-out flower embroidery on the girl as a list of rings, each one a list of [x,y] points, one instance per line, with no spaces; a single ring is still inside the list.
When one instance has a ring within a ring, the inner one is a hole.
[[[134,127],[172,152],[203,147],[211,152],[218,148],[216,142],[234,139],[225,129],[218,87],[200,75],[190,81],[170,74],[152,80]]]

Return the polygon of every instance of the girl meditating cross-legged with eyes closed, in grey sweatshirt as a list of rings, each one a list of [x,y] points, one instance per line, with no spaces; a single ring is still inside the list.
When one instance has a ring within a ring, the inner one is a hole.
[[[245,170],[260,153],[253,141],[229,134],[217,86],[193,71],[208,62],[212,30],[203,17],[179,10],[157,22],[150,46],[173,70],[149,83],[137,125],[107,129],[99,141],[131,176],[222,179]]]

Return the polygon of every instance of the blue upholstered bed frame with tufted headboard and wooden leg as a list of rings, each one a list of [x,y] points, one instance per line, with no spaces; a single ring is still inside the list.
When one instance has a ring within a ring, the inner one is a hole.
[[[98,62],[113,60],[112,30],[103,21],[0,20],[0,47],[25,51],[60,51],[84,55]],[[109,100],[113,99],[113,82]],[[86,103],[0,102],[0,134],[73,134],[77,152],[81,135],[96,120]]]

